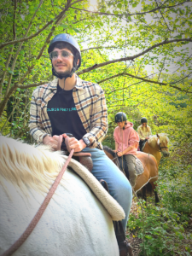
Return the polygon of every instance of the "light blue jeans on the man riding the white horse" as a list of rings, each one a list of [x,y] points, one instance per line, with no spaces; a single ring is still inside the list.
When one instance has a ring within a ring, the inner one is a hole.
[[[91,154],[93,161],[92,174],[98,180],[104,179],[108,183],[109,194],[123,207],[125,219],[122,220],[122,225],[125,231],[132,201],[130,182],[104,151],[98,148],[84,148],[83,152],[89,152]]]

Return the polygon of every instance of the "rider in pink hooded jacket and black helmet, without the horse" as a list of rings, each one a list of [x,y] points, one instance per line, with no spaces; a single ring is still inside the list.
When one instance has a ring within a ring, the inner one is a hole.
[[[139,136],[137,131],[133,129],[133,124],[127,121],[125,113],[116,113],[115,122],[118,124],[113,133],[115,152],[119,157],[124,155],[128,167],[130,183],[131,186],[134,187],[137,180],[135,156],[137,155]]]

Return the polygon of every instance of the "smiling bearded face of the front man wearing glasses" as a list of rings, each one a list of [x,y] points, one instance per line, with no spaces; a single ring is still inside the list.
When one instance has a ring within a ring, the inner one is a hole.
[[[63,56],[63,51],[67,52],[69,55],[66,57]],[[73,53],[67,48],[54,48],[53,52],[57,53],[57,55],[55,54],[55,57],[52,59],[52,64],[55,69],[55,72],[63,75],[71,73],[73,68]]]

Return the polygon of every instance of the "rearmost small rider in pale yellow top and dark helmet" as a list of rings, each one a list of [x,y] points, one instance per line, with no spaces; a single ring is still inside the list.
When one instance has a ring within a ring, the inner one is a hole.
[[[148,119],[143,117],[141,119],[141,123],[142,125],[138,126],[137,132],[140,138],[139,148],[141,151],[143,151],[144,143],[148,140],[149,137],[152,136],[152,133],[150,126],[147,125]]]

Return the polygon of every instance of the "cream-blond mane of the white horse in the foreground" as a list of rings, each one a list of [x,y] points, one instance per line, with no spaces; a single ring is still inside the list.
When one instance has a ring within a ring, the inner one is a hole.
[[[0,136],[0,183],[3,178],[20,186],[48,192],[64,163],[61,153],[51,151],[49,146],[21,143],[9,137]],[[2,178],[3,177],[3,178]]]

